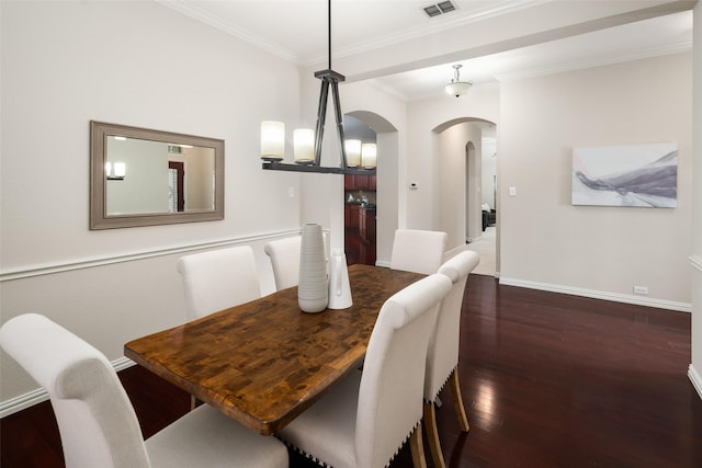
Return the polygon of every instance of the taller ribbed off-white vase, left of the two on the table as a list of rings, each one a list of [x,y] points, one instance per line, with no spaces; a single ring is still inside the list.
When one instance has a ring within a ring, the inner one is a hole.
[[[303,312],[321,312],[329,303],[327,286],[327,260],[321,226],[303,226],[299,248],[299,281],[297,284],[297,304]]]

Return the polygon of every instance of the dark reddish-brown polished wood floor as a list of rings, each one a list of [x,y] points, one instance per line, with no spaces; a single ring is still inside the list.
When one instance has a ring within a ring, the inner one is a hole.
[[[451,404],[438,411],[450,467],[702,467],[689,313],[479,275],[467,287],[460,376],[471,432],[458,432]],[[186,395],[141,368],[120,374],[145,436],[186,411]],[[3,468],[64,466],[48,403],[0,431]],[[292,454],[291,466],[316,465]],[[406,448],[392,465],[410,466]]]

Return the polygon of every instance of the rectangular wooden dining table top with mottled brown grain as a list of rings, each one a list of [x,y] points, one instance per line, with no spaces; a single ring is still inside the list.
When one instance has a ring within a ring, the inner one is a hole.
[[[297,287],[131,341],[125,356],[260,434],[358,368],[381,307],[424,275],[349,266],[353,305],[301,311]]]

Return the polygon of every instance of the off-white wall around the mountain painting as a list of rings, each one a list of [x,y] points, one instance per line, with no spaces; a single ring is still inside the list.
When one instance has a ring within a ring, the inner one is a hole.
[[[502,83],[501,282],[616,299],[642,285],[689,307],[691,65],[686,53]],[[678,142],[677,208],[570,205],[574,147],[660,141]]]

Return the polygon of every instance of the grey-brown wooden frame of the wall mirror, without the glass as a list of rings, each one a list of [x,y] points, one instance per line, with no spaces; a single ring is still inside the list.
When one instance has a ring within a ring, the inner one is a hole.
[[[109,136],[124,136],[215,150],[215,209],[207,212],[106,215],[105,161]],[[132,228],[224,219],[224,140],[90,121],[90,229]]]

